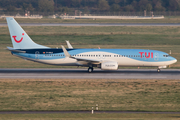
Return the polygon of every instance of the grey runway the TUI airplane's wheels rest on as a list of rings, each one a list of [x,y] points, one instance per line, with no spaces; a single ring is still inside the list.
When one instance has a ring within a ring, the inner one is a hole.
[[[41,79],[180,79],[179,69],[119,69],[102,71],[95,69],[0,69],[0,78]]]

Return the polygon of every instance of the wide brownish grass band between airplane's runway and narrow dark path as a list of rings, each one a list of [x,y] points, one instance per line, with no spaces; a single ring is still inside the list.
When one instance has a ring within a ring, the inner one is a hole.
[[[0,111],[180,111],[179,80],[0,79]]]

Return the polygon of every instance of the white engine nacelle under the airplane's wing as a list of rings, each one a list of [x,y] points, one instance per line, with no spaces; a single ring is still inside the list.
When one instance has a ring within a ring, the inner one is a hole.
[[[102,70],[117,70],[118,69],[118,63],[109,61],[109,62],[103,62],[101,63],[101,69]]]

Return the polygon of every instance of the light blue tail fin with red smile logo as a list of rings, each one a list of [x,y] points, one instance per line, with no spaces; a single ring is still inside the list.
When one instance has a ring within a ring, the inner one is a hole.
[[[48,48],[36,44],[12,17],[7,17],[7,24],[14,49],[38,49]]]

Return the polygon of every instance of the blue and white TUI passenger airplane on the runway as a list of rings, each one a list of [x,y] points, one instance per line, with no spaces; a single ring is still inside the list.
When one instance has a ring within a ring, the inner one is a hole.
[[[12,17],[7,17],[12,47],[7,47],[12,55],[34,62],[58,66],[88,67],[91,73],[94,67],[101,70],[118,70],[118,67],[157,67],[161,68],[176,63],[169,54],[146,49],[77,49],[69,41],[68,49],[49,48],[35,43]]]

